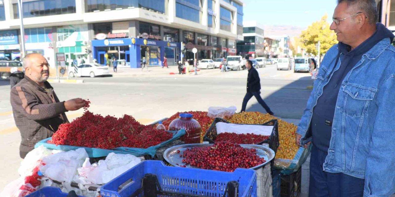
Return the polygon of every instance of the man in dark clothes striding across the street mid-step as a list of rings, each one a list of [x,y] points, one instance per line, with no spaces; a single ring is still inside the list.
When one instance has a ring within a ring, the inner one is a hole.
[[[274,115],[274,113],[270,110],[269,106],[263,101],[261,97],[261,80],[259,78],[258,71],[252,67],[252,61],[247,60],[246,67],[248,69],[248,76],[247,76],[247,93],[243,99],[243,106],[241,107],[241,112],[245,112],[248,100],[251,99],[252,96],[258,100],[259,104],[263,108],[265,108],[266,112],[270,115]]]

